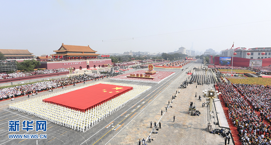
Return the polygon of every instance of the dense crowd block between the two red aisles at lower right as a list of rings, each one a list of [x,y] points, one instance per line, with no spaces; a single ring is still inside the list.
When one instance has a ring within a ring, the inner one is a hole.
[[[229,118],[237,127],[242,144],[270,144],[270,125],[263,122],[263,117],[257,115],[230,83],[218,83],[217,85],[221,97],[229,109]]]

